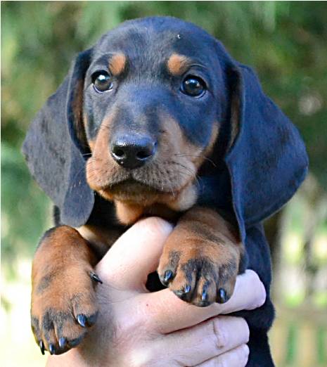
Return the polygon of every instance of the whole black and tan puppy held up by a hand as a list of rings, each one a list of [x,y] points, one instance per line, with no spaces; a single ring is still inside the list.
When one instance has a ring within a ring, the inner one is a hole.
[[[23,151],[56,205],[32,269],[42,352],[82,340],[97,316],[94,266],[129,225],[158,215],[176,223],[158,274],[182,300],[226,302],[237,274],[257,271],[267,301],[239,314],[250,326],[248,366],[273,366],[261,221],[295,193],[307,155],[255,73],[219,41],[175,18],[123,23],[77,56]]]

